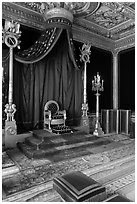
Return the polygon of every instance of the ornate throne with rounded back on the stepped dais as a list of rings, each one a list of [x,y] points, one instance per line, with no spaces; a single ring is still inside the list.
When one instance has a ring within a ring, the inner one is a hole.
[[[51,130],[51,126],[65,126],[66,110],[60,111],[56,101],[50,100],[44,106],[44,129]]]

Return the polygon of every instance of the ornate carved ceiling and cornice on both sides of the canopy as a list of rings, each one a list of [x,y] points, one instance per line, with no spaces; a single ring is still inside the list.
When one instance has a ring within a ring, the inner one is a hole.
[[[45,21],[40,4],[3,2],[2,17],[42,31]],[[117,52],[134,47],[135,2],[76,3],[72,29],[75,40],[90,42],[105,50]]]

